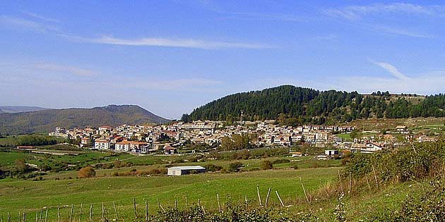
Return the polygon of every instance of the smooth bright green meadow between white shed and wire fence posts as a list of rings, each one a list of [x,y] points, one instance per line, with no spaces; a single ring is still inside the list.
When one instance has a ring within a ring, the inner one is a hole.
[[[100,214],[102,202],[112,210],[112,202],[119,207],[122,216],[133,214],[132,198],[140,204],[147,199],[150,212],[158,211],[157,201],[167,207],[177,199],[179,207],[185,206],[185,197],[189,204],[201,204],[208,209],[217,207],[216,194],[221,202],[227,196],[239,202],[245,195],[252,202],[257,201],[256,185],[261,195],[266,197],[268,187],[277,190],[284,202],[292,202],[304,197],[299,177],[302,178],[308,192],[321,187],[321,183],[333,183],[340,168],[312,168],[304,170],[269,170],[246,173],[205,173],[178,177],[103,177],[73,180],[1,180],[0,181],[0,214],[18,215],[19,211],[28,212],[30,218],[37,209],[46,206],[49,218],[57,216],[57,206],[89,207],[93,204],[95,215]],[[275,195],[271,196],[271,204],[278,204]],[[85,210],[85,209],[84,209]],[[141,209],[142,210],[142,209]],[[61,214],[68,216],[69,207]]]

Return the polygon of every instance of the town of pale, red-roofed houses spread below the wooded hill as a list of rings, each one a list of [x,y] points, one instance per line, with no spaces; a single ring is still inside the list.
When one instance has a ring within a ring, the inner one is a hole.
[[[224,137],[254,135],[255,147],[310,147],[349,149],[352,152],[371,153],[404,142],[432,141],[434,137],[415,135],[405,125],[393,131],[362,131],[351,126],[302,125],[297,127],[276,125],[275,121],[224,125],[222,121],[175,122],[169,125],[120,125],[99,128],[56,128],[49,135],[64,137],[79,147],[131,152],[134,154],[177,154],[185,144],[205,144],[218,147]]]

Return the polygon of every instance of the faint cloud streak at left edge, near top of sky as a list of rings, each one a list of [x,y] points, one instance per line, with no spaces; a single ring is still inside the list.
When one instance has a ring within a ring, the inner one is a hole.
[[[45,23],[35,22],[33,20],[26,20],[23,18],[16,18],[11,16],[0,16],[0,26],[8,28],[20,28],[23,30],[34,30],[37,32],[57,31],[59,28],[54,25],[47,25]]]

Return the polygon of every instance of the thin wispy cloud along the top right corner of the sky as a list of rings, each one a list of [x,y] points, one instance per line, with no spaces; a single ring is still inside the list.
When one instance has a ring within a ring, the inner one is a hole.
[[[376,13],[415,13],[427,16],[444,16],[445,7],[437,5],[419,5],[408,3],[369,4],[364,6],[345,6],[328,8],[324,12],[330,16],[340,16],[349,20],[357,20],[363,16]]]

